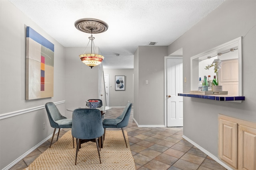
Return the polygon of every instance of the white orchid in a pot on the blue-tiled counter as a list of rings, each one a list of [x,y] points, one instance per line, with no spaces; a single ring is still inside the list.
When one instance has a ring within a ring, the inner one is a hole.
[[[222,62],[220,61],[220,59],[214,59],[214,61],[212,62],[212,64],[208,64],[208,66],[206,66],[206,70],[209,70],[210,67],[214,66],[214,73],[216,73],[216,80],[212,80],[212,91],[222,91],[222,86],[219,85],[219,80],[218,80],[218,71],[220,70],[220,66],[221,66]]]

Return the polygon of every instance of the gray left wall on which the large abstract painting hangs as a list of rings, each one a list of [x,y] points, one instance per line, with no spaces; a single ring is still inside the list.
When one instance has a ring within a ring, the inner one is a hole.
[[[0,17],[0,169],[3,169],[52,134],[46,111],[40,108],[46,102],[65,100],[65,60],[64,47],[7,0],[0,1]],[[26,26],[54,44],[52,98],[25,100]],[[65,105],[57,107],[65,115]],[[8,115],[11,117],[4,118]]]

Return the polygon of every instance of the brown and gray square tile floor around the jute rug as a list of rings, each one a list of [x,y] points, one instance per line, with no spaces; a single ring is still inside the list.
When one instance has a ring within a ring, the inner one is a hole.
[[[116,118],[124,108],[112,108],[104,118]],[[226,170],[209,156],[182,138],[182,127],[138,127],[132,120],[125,130],[137,170]],[[62,129],[60,137],[70,129]],[[107,129],[120,130],[120,129]],[[55,135],[54,142],[57,135]],[[10,170],[23,170],[48,149],[50,139]]]

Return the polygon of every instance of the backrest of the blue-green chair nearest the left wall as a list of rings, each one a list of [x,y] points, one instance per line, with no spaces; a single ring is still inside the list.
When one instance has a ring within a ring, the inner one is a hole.
[[[62,116],[60,114],[59,109],[56,107],[56,105],[52,102],[48,102],[45,104],[45,109],[50,121],[50,125],[53,128],[59,128],[58,123],[56,121],[61,120],[61,119],[67,119],[66,117]]]

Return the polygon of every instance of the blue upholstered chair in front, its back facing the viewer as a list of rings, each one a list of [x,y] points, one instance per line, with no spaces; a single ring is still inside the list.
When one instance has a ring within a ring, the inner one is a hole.
[[[98,109],[75,109],[72,114],[72,136],[77,139],[76,160],[82,139],[94,139],[100,158],[98,138],[104,134],[101,112]],[[101,160],[100,160],[101,163]],[[76,162],[75,162],[76,165]]]

